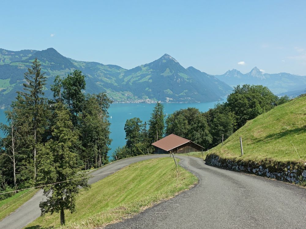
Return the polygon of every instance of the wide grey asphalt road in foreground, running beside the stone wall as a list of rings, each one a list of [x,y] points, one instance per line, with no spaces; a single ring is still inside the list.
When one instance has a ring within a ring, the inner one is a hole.
[[[106,228],[306,228],[306,189],[204,163],[189,158],[196,187]]]

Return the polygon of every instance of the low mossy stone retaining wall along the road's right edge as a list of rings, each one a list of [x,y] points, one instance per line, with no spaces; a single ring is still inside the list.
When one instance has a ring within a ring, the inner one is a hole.
[[[272,159],[246,162],[241,159],[222,158],[216,154],[208,154],[205,161],[209,165],[224,169],[253,173],[291,183],[306,180],[306,163],[304,162],[277,162]]]

